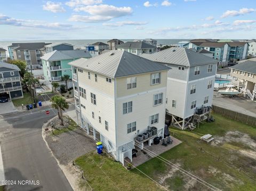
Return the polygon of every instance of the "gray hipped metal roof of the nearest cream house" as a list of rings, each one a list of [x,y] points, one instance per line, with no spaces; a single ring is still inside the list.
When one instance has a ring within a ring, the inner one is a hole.
[[[169,69],[126,51],[109,51],[91,59],[79,59],[69,64],[113,78]]]

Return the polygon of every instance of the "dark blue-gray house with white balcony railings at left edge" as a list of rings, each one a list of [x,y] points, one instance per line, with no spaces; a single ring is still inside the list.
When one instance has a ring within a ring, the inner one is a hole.
[[[20,69],[17,65],[0,62],[0,94],[10,99],[23,97]]]

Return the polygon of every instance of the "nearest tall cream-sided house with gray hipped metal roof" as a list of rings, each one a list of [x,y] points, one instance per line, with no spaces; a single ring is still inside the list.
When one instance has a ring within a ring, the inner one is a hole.
[[[132,160],[134,138],[149,127],[163,136],[169,68],[125,51],[69,64],[82,128],[92,129],[117,161]]]

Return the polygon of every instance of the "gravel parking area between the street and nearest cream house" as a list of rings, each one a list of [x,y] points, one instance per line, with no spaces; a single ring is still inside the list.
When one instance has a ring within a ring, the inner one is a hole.
[[[45,133],[45,132],[44,132]],[[77,157],[96,149],[94,140],[81,128],[63,132],[58,136],[51,131],[45,133],[45,140],[60,164],[66,165]]]

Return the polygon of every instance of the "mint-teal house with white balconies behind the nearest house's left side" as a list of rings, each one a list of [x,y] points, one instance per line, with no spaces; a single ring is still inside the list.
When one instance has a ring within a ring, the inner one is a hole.
[[[71,79],[71,66],[69,62],[85,58],[89,59],[91,54],[87,50],[52,51],[41,57],[46,81],[60,81],[61,77],[68,74]]]

